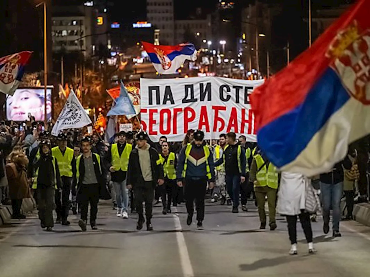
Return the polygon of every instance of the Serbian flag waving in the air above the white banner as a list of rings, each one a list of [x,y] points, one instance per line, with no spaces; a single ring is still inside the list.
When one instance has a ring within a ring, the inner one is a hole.
[[[175,74],[186,59],[196,61],[196,49],[193,44],[154,45],[142,41],[144,50],[148,53],[155,70],[159,74]]]

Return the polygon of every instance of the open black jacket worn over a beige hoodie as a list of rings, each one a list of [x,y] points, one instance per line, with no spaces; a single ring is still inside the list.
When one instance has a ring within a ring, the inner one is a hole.
[[[157,164],[159,160],[159,155],[157,150],[153,147],[149,148],[149,155],[150,155],[150,164],[152,167],[152,175],[153,175],[153,184],[157,184],[158,179],[164,179],[163,174],[163,166],[161,164]],[[130,154],[130,159],[128,161],[128,170],[127,170],[127,184],[132,185],[132,187],[144,186],[144,178],[142,177],[141,167],[139,163],[139,152],[138,150],[132,149]]]

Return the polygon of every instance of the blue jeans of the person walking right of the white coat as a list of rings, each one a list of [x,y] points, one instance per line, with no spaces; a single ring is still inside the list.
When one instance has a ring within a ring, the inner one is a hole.
[[[333,209],[333,230],[339,231],[340,199],[343,194],[343,182],[325,184],[320,182],[324,223],[329,224],[330,207]]]

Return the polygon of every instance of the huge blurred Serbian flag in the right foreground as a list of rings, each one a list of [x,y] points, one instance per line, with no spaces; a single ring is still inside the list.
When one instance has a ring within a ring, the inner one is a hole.
[[[285,171],[312,176],[370,132],[370,0],[360,0],[250,96],[257,140]]]

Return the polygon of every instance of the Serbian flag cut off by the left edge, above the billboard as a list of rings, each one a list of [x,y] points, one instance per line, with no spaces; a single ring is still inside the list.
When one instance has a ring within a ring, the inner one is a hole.
[[[13,95],[22,81],[24,66],[32,52],[23,51],[0,58],[0,92]]]

